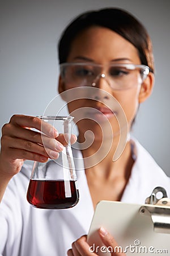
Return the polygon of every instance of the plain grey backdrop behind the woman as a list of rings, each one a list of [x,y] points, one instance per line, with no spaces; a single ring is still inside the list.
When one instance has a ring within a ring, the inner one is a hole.
[[[137,16],[151,35],[155,88],[141,105],[135,137],[170,175],[169,155],[169,0],[0,1],[0,126],[14,113],[41,115],[57,94],[57,41],[77,14],[121,7]]]

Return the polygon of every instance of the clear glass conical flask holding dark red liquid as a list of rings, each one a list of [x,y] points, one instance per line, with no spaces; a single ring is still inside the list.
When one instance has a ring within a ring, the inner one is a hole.
[[[76,185],[76,172],[70,146],[71,121],[73,117],[39,117],[54,126],[63,134],[65,144],[58,159],[49,159],[46,163],[34,162],[29,181],[27,200],[36,208],[66,209],[74,207],[79,201]],[[41,130],[42,129],[41,125]],[[45,140],[41,136],[42,142]],[[57,138],[56,138],[57,139]],[[45,145],[45,143],[43,143]],[[46,148],[46,146],[44,146]],[[47,150],[46,150],[47,151]]]

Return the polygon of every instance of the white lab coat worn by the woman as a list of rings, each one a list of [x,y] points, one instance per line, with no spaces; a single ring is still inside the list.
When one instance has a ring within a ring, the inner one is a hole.
[[[164,187],[169,196],[169,177],[141,144],[135,140],[131,143],[136,160],[121,201],[143,204],[158,186]],[[79,150],[73,150],[73,154],[82,158]],[[24,164],[8,184],[0,205],[0,255],[65,256],[71,243],[88,233],[94,214],[85,172],[76,172],[79,203],[63,210],[37,209],[27,202],[30,173],[31,167]]]

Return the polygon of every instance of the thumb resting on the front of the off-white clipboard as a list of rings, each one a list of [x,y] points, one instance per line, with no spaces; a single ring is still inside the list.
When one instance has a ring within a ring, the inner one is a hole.
[[[118,246],[116,240],[103,227],[101,227],[99,229],[99,235],[100,235],[100,238],[103,241],[104,245],[112,248],[112,253],[111,253],[112,256],[113,255],[114,256],[125,256],[126,255],[125,253],[123,253],[123,250],[121,250],[121,247]]]

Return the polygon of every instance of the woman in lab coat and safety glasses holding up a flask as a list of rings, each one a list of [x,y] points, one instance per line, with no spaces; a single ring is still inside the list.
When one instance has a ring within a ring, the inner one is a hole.
[[[72,243],[68,255],[96,255],[83,235],[88,233],[97,202],[144,203],[155,187],[169,189],[169,178],[134,139],[128,139],[113,159],[120,130],[126,126],[119,129],[120,112],[130,131],[139,104],[150,96],[154,85],[151,40],[142,24],[122,10],[91,11],[66,28],[58,49],[59,93],[69,97],[67,105],[75,115],[80,146],[90,142],[81,150],[73,148],[74,157],[82,160],[82,170],[77,172],[80,201],[68,210],[30,207],[25,200],[30,172],[24,160],[45,162],[48,154],[40,134],[29,129],[40,130],[40,119],[14,115],[2,129],[1,255],[66,255]],[[75,88],[77,94],[71,101]],[[84,88],[88,88],[86,93]],[[50,137],[50,156],[57,158],[62,139],[48,125],[44,133]],[[74,135],[72,139],[75,142]],[[107,230],[101,228],[99,234],[106,246],[116,245]]]

